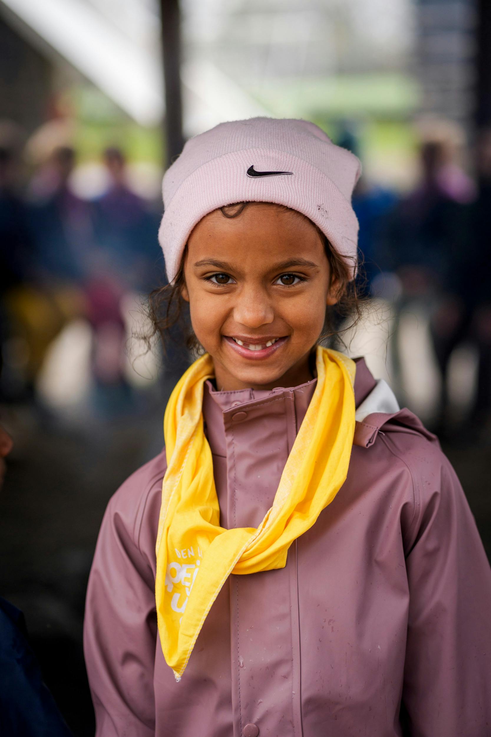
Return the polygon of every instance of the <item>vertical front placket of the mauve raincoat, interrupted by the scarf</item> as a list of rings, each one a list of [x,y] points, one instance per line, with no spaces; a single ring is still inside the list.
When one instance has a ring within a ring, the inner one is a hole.
[[[257,527],[297,434],[294,392],[230,408],[224,420],[227,527]],[[301,737],[296,543],[284,568],[230,576],[230,638],[233,736]]]

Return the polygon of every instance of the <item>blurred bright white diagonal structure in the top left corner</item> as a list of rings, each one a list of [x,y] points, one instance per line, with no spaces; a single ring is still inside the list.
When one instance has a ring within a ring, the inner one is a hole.
[[[88,80],[141,125],[160,120],[163,83],[153,3],[1,0],[0,11],[4,24],[49,66],[52,93]],[[10,85],[15,92],[12,80]]]

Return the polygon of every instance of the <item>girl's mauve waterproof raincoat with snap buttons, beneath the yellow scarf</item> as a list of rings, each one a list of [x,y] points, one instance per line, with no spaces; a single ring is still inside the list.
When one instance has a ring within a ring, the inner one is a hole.
[[[375,388],[356,359],[358,407]],[[314,392],[215,391],[226,528],[257,526]],[[231,575],[175,682],[155,614],[165,453],[107,506],[85,659],[98,737],[485,737],[491,570],[456,474],[409,410],[357,422],[347,479],[284,568]]]

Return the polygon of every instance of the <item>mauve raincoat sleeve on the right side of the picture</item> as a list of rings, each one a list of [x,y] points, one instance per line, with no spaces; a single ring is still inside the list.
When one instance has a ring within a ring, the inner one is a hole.
[[[456,472],[439,455],[437,485],[428,466],[415,489],[401,719],[407,737],[486,737],[491,569]],[[434,490],[425,492],[428,487]]]

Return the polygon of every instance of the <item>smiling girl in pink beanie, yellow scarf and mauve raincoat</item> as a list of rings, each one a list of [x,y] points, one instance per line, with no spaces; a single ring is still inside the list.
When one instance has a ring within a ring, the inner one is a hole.
[[[102,522],[100,737],[490,734],[491,570],[462,487],[363,358],[319,345],[356,306],[359,174],[317,126],[259,118],[164,176],[166,289],[203,355]]]

